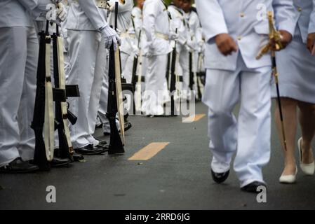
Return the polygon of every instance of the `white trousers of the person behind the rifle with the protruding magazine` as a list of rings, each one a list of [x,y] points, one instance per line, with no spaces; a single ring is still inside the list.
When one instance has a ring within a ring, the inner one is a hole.
[[[96,117],[100,103],[100,92],[105,71],[105,45],[98,31],[68,30],[69,59],[71,68],[67,84],[79,85],[80,97],[69,99],[70,111],[78,120],[70,125],[72,144],[81,148],[94,146],[98,141],[95,132]]]

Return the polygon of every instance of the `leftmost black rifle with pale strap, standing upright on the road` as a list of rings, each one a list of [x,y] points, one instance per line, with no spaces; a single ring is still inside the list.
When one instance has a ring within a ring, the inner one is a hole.
[[[39,59],[36,74],[36,97],[34,105],[34,116],[31,124],[31,127],[34,130],[35,134],[35,150],[33,162],[35,165],[38,165],[39,169],[41,170],[50,170],[51,165],[49,161],[51,161],[51,159],[53,158],[53,151],[48,151],[48,147],[46,147],[46,142],[43,139],[43,126],[45,123],[45,118],[47,119],[47,117],[45,116],[45,111],[46,109],[48,109],[48,104],[46,104],[46,97],[48,97],[46,84],[50,81],[50,77],[48,74],[50,73],[51,69],[48,62],[48,59],[50,59],[50,50],[49,52],[46,52],[46,50],[48,50],[48,46],[50,49],[51,45],[51,37],[48,33],[48,25],[49,22],[47,21],[46,32],[41,31],[41,33],[39,33]],[[46,64],[46,62],[48,62],[48,64]],[[49,144],[51,144],[51,141],[49,141]]]

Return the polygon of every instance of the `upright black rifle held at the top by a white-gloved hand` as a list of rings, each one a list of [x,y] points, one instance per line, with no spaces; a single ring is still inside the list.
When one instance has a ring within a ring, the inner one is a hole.
[[[118,2],[115,3],[115,29],[118,14]],[[109,85],[108,85],[108,104],[106,116],[109,120],[110,139],[109,154],[124,153],[124,121],[121,111],[123,111],[123,102],[121,95],[121,69],[119,60],[119,47],[114,50],[114,44],[109,48]],[[116,114],[119,116],[121,134],[116,126]]]

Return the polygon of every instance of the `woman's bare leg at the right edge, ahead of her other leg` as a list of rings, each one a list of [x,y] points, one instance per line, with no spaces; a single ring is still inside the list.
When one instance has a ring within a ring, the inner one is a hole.
[[[302,162],[309,164],[314,161],[311,151],[311,140],[315,135],[315,104],[299,102],[300,125],[302,130]]]

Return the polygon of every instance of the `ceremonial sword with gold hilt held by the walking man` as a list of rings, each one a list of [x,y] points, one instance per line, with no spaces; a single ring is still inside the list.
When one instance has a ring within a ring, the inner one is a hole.
[[[269,40],[274,40],[276,43],[276,50],[281,50],[283,48],[283,45],[281,44],[281,34],[279,31],[276,30],[274,27],[274,16],[271,11],[267,13],[268,15],[268,21],[269,21]],[[283,124],[283,113],[282,113],[282,106],[281,106],[281,97],[280,97],[280,90],[279,90],[279,73],[276,68],[276,53],[274,50],[271,48],[271,44],[267,43],[262,47],[260,52],[258,52],[258,55],[256,59],[260,59],[262,55],[266,54],[271,50],[272,54],[272,74],[276,80],[276,98],[279,106],[279,116],[281,120],[281,131],[282,131],[282,137],[283,137],[283,146],[284,150],[287,151],[287,146],[286,146],[286,130],[284,129],[284,124]]]

